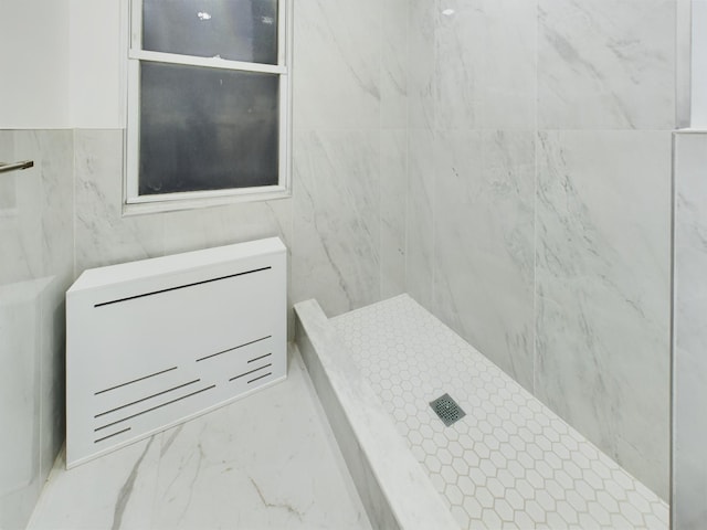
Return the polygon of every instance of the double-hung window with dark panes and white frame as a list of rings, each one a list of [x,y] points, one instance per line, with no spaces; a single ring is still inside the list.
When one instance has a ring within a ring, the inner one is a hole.
[[[126,212],[289,193],[287,0],[131,0]]]

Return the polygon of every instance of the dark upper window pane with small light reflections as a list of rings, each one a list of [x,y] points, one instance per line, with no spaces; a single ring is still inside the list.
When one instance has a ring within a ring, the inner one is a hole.
[[[143,49],[277,64],[277,0],[144,0]]]

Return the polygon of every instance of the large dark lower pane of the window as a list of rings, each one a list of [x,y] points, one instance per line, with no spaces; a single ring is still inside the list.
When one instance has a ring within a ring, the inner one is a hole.
[[[151,62],[140,74],[140,195],[277,184],[277,75]]]

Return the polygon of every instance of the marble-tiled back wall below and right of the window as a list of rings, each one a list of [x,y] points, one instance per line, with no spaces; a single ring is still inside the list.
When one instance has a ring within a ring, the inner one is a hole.
[[[278,235],[291,299],[337,315],[404,289],[404,0],[295,7],[292,199],[123,216],[123,132],[76,131],[76,273]]]

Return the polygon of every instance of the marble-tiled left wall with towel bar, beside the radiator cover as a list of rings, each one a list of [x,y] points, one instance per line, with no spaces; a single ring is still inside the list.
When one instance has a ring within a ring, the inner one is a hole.
[[[73,135],[0,130],[0,528],[24,528],[64,438],[64,292],[73,279]]]

